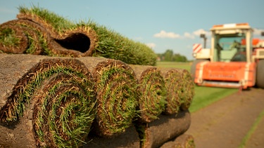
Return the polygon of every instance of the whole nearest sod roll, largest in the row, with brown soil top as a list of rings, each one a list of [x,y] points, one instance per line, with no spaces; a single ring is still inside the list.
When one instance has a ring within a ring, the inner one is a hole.
[[[82,62],[6,54],[0,54],[0,62],[0,143],[14,147],[84,144],[96,102],[92,74]]]

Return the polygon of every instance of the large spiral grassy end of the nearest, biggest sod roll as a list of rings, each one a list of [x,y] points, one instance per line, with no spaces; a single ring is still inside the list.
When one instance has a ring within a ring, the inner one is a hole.
[[[79,60],[41,60],[14,86],[1,107],[1,122],[18,121],[28,107],[37,146],[82,145],[96,114],[92,74]]]

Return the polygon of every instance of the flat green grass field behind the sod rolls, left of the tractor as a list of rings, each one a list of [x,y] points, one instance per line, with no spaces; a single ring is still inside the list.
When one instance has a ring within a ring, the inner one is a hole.
[[[173,67],[190,70],[191,62],[157,62],[157,67]],[[189,108],[190,112],[196,112],[223,97],[237,92],[238,89],[195,86],[194,91],[195,95],[191,107]]]

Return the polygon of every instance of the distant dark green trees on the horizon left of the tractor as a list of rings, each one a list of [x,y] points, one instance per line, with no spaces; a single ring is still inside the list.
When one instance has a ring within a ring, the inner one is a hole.
[[[165,53],[158,53],[159,61],[166,62],[187,62],[187,58],[184,55],[180,55],[180,53],[173,53],[171,49],[165,51]]]

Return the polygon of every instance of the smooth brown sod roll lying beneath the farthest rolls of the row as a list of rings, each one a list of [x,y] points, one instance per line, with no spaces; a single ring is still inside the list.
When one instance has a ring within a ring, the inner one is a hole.
[[[177,116],[163,115],[160,119],[148,124],[137,123],[137,130],[141,138],[141,147],[161,147],[162,144],[185,133],[191,124],[189,111],[179,112]]]

